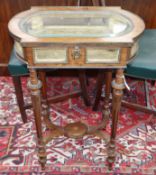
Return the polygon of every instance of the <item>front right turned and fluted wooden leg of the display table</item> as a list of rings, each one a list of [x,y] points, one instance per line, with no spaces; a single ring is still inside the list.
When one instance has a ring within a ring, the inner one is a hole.
[[[117,70],[116,79],[112,82],[112,87],[113,87],[112,127],[111,127],[110,144],[108,148],[109,169],[112,169],[112,164],[115,161],[115,137],[117,131],[118,114],[121,107],[121,99],[124,89],[122,69]]]

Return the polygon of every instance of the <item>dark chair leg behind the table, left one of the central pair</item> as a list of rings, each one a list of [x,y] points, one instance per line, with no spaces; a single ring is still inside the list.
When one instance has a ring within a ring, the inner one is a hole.
[[[90,104],[89,96],[87,92],[87,80],[86,80],[85,70],[79,70],[78,74],[79,74],[79,81],[80,81],[80,86],[81,86],[81,91],[82,91],[84,102],[86,106],[90,106],[91,104]]]

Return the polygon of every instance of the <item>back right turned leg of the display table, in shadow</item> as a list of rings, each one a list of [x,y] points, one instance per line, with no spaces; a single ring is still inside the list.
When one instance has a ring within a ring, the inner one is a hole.
[[[104,128],[108,123],[110,117],[110,108],[109,108],[109,100],[110,100],[110,93],[111,93],[111,82],[112,82],[112,71],[108,70],[105,73],[105,98],[104,98],[104,110],[102,111],[104,117]]]

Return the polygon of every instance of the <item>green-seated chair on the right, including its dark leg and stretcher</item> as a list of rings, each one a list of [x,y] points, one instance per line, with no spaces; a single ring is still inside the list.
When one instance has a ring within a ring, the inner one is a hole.
[[[104,72],[100,72],[97,79],[97,92],[95,95],[95,102],[93,105],[93,109],[97,110],[99,100],[101,98],[102,92],[102,74]],[[145,30],[140,41],[139,41],[139,50],[135,56],[135,59],[128,64],[125,75],[143,79],[145,80],[152,80],[152,82],[156,80],[156,30]],[[147,88],[145,88],[147,89]],[[148,98],[146,93],[146,99],[148,104]],[[156,114],[156,111],[149,108],[149,105],[142,106],[135,103],[130,103],[127,101],[122,101],[122,105],[133,108],[142,112]]]

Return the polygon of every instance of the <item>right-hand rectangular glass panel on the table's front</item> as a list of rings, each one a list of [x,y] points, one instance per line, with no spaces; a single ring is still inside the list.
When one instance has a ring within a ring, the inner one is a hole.
[[[87,63],[118,63],[119,49],[87,48]]]

